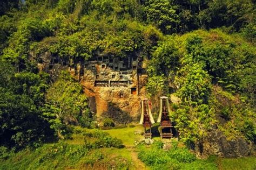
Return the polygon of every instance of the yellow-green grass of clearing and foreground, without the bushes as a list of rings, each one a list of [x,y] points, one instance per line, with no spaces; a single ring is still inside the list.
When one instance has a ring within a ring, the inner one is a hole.
[[[23,150],[0,158],[0,169],[104,169],[108,164],[114,165],[117,161],[120,164],[124,162],[124,166],[119,167],[121,169],[150,169],[137,158],[137,149],[134,147],[134,140],[142,139],[142,136],[137,134],[142,131],[142,126],[104,131],[112,137],[121,139],[126,147],[98,148],[85,152],[86,154],[77,159],[76,155],[83,152],[75,151],[80,151],[76,148],[84,144],[84,137],[75,133],[72,134],[72,139],[63,143],[45,144],[34,151]],[[66,149],[58,152],[62,149],[62,145],[66,145]],[[210,157],[207,160],[196,160],[191,164],[184,164],[182,169],[255,169],[254,162],[256,158],[253,157],[238,159]]]

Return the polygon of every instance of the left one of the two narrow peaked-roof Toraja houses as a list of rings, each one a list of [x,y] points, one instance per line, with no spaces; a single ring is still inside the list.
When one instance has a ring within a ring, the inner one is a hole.
[[[151,138],[151,126],[154,124],[154,119],[151,113],[151,103],[147,98],[142,100],[142,116],[140,117],[139,124],[143,124],[144,126],[145,138]]]

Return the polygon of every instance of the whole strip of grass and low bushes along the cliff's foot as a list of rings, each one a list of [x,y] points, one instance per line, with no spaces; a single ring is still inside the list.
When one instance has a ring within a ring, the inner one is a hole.
[[[130,134],[133,134],[134,138],[140,138],[142,137],[140,134],[134,134],[134,131],[140,130],[142,130],[141,126],[104,130],[104,132],[75,127],[70,139],[62,140],[55,144],[44,144],[43,146],[36,148],[36,150],[26,148],[25,150],[14,152],[9,151],[8,148],[2,146],[0,147],[0,168],[136,169],[138,168],[138,162],[136,162],[138,160],[132,158],[131,152],[136,154],[138,152],[139,159],[145,162],[145,165],[148,165],[151,169],[255,168],[254,164],[252,164],[252,162],[255,161],[255,158],[253,157],[227,159],[210,156],[206,160],[196,159],[196,157],[188,151],[182,143],[177,143],[177,141],[174,140],[171,142],[170,150],[167,151],[163,150],[164,143],[157,139],[151,146],[143,144],[136,146],[134,151],[127,147],[119,148],[122,147],[120,139],[128,141],[125,138],[122,138],[122,136],[127,134],[127,131],[129,131]],[[110,135],[107,134],[106,131],[110,132]],[[113,136],[117,136],[119,139],[113,138]],[[97,147],[88,145],[88,143],[92,144],[92,141],[95,140],[100,141],[102,145],[97,145]],[[134,143],[127,143],[127,145],[130,146],[133,144]]]

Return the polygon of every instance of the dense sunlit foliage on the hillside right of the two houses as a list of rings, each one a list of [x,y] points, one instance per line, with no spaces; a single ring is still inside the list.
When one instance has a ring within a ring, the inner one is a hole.
[[[230,138],[255,141],[255,131],[242,130],[248,124],[255,130],[255,56],[253,44],[220,30],[171,36],[152,53],[147,91],[149,95],[174,91],[181,98],[171,117],[187,144],[203,139],[215,124]],[[219,124],[224,114],[226,123]]]

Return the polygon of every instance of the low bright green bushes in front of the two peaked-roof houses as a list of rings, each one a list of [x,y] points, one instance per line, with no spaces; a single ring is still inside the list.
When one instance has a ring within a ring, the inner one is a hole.
[[[139,146],[138,158],[152,169],[217,169],[214,157],[198,160],[177,141],[171,142],[169,150],[164,150],[163,146],[161,141],[155,141],[150,149]]]

